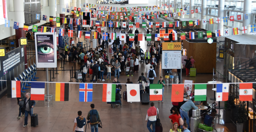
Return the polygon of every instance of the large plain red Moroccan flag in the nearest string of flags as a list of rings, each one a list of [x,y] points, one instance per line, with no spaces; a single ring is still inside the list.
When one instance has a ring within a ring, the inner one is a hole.
[[[172,84],[172,102],[182,102],[184,94],[184,84]]]

